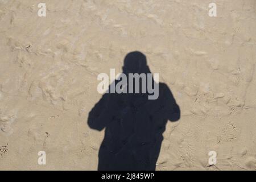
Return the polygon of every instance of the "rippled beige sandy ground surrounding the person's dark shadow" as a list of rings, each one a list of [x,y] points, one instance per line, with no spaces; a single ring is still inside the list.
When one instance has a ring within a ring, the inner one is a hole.
[[[0,0],[0,169],[97,169],[97,75],[135,50],[181,111],[157,170],[256,169],[255,0],[40,2]]]

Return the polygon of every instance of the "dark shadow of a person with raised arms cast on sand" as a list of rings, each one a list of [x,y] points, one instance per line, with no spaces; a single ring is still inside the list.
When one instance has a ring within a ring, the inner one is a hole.
[[[151,73],[146,56],[138,51],[128,53],[123,73],[127,80],[129,73]],[[112,84],[117,83],[118,79]],[[105,128],[98,170],[155,170],[167,121],[179,120],[180,109],[166,84],[152,79],[152,85],[159,86],[155,100],[148,100],[149,93],[107,92],[90,111],[89,127]]]

